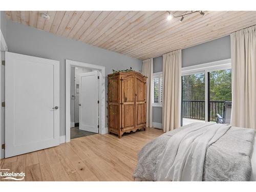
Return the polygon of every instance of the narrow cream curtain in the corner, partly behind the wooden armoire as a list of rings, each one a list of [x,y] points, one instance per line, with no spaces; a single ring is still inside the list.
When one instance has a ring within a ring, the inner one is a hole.
[[[152,81],[153,81],[153,58],[142,61],[142,74],[147,77],[146,83],[146,126],[152,127]]]

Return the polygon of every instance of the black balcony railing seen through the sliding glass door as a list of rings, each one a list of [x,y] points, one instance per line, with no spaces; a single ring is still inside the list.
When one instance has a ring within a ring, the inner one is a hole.
[[[221,116],[224,113],[225,101],[210,101],[209,103],[209,120],[216,121],[216,114]],[[182,117],[191,119],[205,119],[205,101],[183,100],[182,101]]]

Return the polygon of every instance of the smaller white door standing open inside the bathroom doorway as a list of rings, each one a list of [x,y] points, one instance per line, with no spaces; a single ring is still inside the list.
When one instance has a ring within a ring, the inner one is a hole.
[[[80,74],[79,130],[99,133],[98,71]]]

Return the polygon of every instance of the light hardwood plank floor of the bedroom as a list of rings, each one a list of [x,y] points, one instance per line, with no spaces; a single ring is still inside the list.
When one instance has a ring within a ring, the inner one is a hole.
[[[1,168],[25,172],[26,181],[133,181],[139,150],[162,130],[124,135],[95,134],[1,160]],[[2,180],[3,181],[3,180]]]

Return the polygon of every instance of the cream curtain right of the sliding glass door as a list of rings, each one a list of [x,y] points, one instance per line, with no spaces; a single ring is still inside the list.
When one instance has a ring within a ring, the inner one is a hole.
[[[256,129],[256,26],[230,34],[231,125]]]

